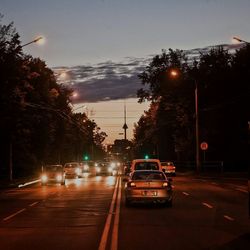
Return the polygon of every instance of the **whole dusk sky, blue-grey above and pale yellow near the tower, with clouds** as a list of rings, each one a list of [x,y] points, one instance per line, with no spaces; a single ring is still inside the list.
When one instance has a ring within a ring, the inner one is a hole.
[[[124,101],[132,138],[149,105],[137,104],[137,75],[162,49],[230,44],[233,36],[250,41],[250,0],[0,0],[0,13],[23,44],[45,37],[24,51],[68,73],[75,107],[92,110],[110,142],[121,139]]]

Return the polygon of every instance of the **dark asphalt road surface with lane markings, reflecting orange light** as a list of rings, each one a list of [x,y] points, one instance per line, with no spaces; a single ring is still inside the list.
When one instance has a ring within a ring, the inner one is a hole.
[[[0,249],[250,249],[247,185],[177,176],[172,208],[125,207],[121,177],[0,193]]]

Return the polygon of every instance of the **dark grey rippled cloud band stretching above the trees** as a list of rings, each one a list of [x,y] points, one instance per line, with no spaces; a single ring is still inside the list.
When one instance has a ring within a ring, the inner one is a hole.
[[[216,45],[184,52],[191,62],[198,59],[201,53],[207,53],[217,46],[235,51],[242,44]],[[138,74],[145,70],[153,57],[154,55],[147,58],[126,57],[123,62],[106,61],[95,65],[55,67],[53,70],[58,75],[61,72],[67,73],[67,77],[59,77],[58,81],[77,91],[74,103],[136,98],[137,90],[142,87]]]

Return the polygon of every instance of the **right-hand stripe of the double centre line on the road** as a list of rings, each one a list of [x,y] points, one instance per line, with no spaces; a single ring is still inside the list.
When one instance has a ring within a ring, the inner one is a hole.
[[[120,221],[120,207],[121,207],[121,177],[119,177],[119,185],[118,185],[118,196],[116,201],[116,209],[115,209],[115,218],[114,218],[114,226],[111,238],[111,250],[118,249],[118,228]]]

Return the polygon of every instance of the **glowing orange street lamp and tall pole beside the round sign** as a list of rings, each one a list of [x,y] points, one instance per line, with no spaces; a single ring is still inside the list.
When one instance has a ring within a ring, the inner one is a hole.
[[[170,70],[170,76],[172,78],[176,78],[179,75],[177,70]],[[199,104],[198,104],[198,83],[196,80],[195,82],[195,146],[196,146],[196,170],[197,173],[200,173],[201,162],[200,162],[200,137],[199,137]]]

